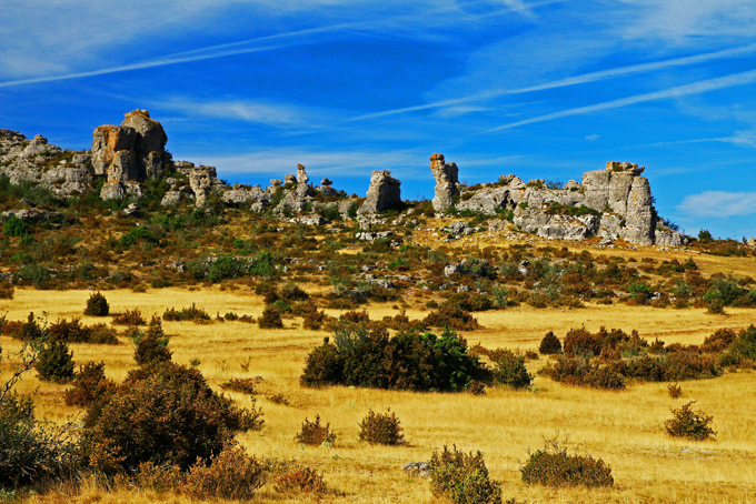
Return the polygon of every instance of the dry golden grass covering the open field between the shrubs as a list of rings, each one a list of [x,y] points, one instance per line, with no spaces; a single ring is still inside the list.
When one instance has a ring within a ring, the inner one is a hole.
[[[698,258],[696,258],[698,261]],[[705,263],[702,261],[700,263]],[[722,263],[718,263],[722,268]],[[714,268],[714,266],[713,266]],[[161,314],[167,308],[181,309],[192,302],[211,314],[226,312],[258,316],[259,296],[250,291],[203,289],[103,292],[111,312],[139,308],[146,316]],[[0,313],[10,320],[23,320],[29,311],[48,320],[82,315],[89,291],[42,292],[19,289],[12,301],[0,301]],[[396,313],[388,305],[370,306],[374,319]],[[478,313],[486,327],[465,333],[470,344],[487,347],[536,350],[543,335],[554,330],[560,337],[570,327],[584,325],[637,329],[645,337],[667,343],[700,343],[723,326],[739,327],[752,323],[756,310],[727,310],[728,316],[707,315],[705,310],[659,310],[648,306],[589,305],[580,310],[536,310],[528,306]],[[336,314],[337,312],[334,312]],[[410,317],[422,315],[408,311]],[[87,324],[110,319],[83,317]],[[250,453],[258,456],[296,458],[320,470],[327,484],[338,492],[325,495],[324,502],[346,503],[428,503],[428,482],[405,476],[400,468],[410,461],[427,461],[444,444],[485,454],[491,477],[504,482],[505,498],[518,502],[553,503],[754,503],[756,502],[756,374],[727,373],[722,377],[682,383],[683,396],[673,400],[666,384],[633,384],[623,392],[601,392],[568,387],[536,377],[531,391],[491,389],[485,396],[467,394],[418,394],[354,387],[311,390],[299,386],[299,374],[307,353],[322,341],[325,332],[301,329],[300,320],[286,320],[286,329],[265,331],[256,324],[216,322],[198,325],[189,322],[163,323],[170,334],[170,349],[178,363],[201,361],[200,371],[216,387],[229,377],[260,375],[258,405],[265,412],[260,432],[240,435]],[[74,360],[105,361],[107,374],[122,380],[135,366],[132,345],[71,345]],[[2,337],[3,353],[19,343]],[[248,371],[241,364],[250,360]],[[531,371],[545,360],[530,361]],[[4,363],[3,373],[8,373]],[[30,373],[19,391],[32,393],[38,415],[63,421],[77,410],[62,403],[61,385],[39,382]],[[289,405],[275,404],[266,395],[282,394]],[[249,400],[232,393],[240,405]],[[687,401],[698,401],[698,409],[714,415],[715,442],[672,440],[664,433],[669,410]],[[369,409],[391,407],[405,427],[409,445],[370,446],[357,441],[358,422]],[[305,417],[320,414],[337,433],[332,448],[300,447],[294,436]],[[543,446],[544,437],[557,431],[568,435],[570,445],[613,468],[616,484],[610,490],[547,488],[526,486],[519,478],[519,464],[528,450]],[[277,495],[270,485],[259,493],[260,502],[301,502],[314,500],[298,495]],[[192,502],[186,496],[156,494],[118,487],[103,491],[92,481],[81,488],[62,486],[29,502]]]

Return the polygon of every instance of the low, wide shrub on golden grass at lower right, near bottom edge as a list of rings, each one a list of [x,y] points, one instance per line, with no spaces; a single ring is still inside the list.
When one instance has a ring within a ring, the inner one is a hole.
[[[520,467],[523,482],[547,486],[611,486],[611,468],[600,458],[590,455],[568,454],[557,439],[546,440],[546,445]]]

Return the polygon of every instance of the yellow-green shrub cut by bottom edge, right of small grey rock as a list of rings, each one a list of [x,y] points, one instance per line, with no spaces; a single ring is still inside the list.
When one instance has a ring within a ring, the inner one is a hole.
[[[449,451],[434,452],[430,457],[430,492],[456,504],[499,504],[501,487],[490,481],[483,453],[475,455]]]

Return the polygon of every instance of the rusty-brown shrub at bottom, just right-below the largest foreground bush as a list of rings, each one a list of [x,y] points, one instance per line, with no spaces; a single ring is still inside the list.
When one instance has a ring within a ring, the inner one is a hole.
[[[243,446],[228,445],[209,460],[191,465],[180,490],[200,500],[247,501],[265,480],[265,471]]]

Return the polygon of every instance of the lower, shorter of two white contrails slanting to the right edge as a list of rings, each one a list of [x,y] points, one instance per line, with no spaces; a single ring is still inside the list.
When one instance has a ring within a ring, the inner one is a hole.
[[[707,91],[714,91],[718,89],[732,88],[735,85],[748,84],[756,82],[756,70],[742,73],[733,73],[725,77],[719,77],[716,79],[707,79],[698,82],[693,82],[690,84],[677,85],[674,88],[665,89],[662,91],[654,91],[650,93],[636,94],[633,97],[620,98],[618,100],[605,101],[601,103],[596,103],[593,105],[578,107],[576,109],[561,110],[559,112],[548,113],[545,115],[538,115],[535,118],[526,119],[523,121],[510,122],[508,124],[503,124],[497,128],[491,128],[484,133],[493,133],[495,131],[507,130],[510,128],[517,128],[526,124],[534,124],[536,122],[551,121],[555,119],[567,118],[571,115],[583,115],[591,112],[598,112],[601,110],[618,109],[621,107],[629,107],[637,103],[644,103],[655,100],[664,100],[668,98],[680,98],[690,94],[700,94]]]

